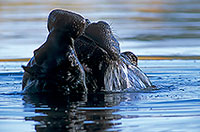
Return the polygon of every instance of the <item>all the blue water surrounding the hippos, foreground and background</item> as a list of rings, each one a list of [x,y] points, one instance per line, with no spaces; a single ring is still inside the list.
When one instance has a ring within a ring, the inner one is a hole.
[[[200,55],[199,0],[1,0],[0,59],[29,58],[46,39],[53,8],[111,24],[122,51]],[[24,96],[26,62],[0,62],[0,132],[200,131],[200,60],[140,60],[156,90]]]

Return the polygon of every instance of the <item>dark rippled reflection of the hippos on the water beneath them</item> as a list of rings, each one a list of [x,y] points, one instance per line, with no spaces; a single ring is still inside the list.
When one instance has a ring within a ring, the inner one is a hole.
[[[117,110],[111,108],[120,103],[118,94],[25,96],[23,100],[27,105],[25,109],[31,104],[36,108],[36,113],[44,114],[25,117],[26,121],[39,122],[35,126],[37,132],[104,131],[116,125],[112,120],[121,119],[120,115],[113,115]]]

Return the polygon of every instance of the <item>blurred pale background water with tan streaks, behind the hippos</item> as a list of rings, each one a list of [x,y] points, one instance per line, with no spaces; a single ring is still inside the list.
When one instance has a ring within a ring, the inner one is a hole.
[[[108,21],[122,50],[137,55],[200,55],[199,0],[0,1],[0,58],[31,57],[46,38],[53,8]]]

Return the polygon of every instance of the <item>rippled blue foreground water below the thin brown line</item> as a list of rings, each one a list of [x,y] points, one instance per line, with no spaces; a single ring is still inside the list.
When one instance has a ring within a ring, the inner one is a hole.
[[[0,62],[0,131],[200,130],[200,60],[139,61],[157,90],[19,95],[25,62]]]

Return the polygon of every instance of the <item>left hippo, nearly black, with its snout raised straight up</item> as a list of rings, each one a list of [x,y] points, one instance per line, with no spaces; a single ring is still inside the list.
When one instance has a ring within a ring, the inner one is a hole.
[[[53,10],[48,19],[46,42],[22,66],[23,89],[36,92],[86,92],[85,72],[74,51],[74,39],[85,28],[85,19],[65,10]]]

